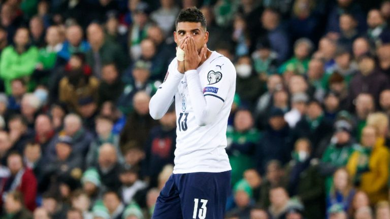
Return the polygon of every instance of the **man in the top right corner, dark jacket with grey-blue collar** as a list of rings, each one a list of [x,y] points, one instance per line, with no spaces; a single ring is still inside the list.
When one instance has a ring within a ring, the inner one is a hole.
[[[379,9],[371,9],[367,15],[367,35],[375,43],[380,35],[387,30],[386,21]]]

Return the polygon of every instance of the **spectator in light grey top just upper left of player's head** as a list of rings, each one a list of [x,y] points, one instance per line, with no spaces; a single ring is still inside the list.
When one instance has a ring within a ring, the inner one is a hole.
[[[160,0],[161,7],[150,14],[150,18],[157,23],[165,35],[169,35],[174,30],[179,7],[173,0]]]

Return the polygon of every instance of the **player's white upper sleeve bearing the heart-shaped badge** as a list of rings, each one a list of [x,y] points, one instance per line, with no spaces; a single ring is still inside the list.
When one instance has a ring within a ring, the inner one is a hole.
[[[213,60],[207,77],[201,79],[203,86],[203,95],[218,98],[222,102],[226,100],[229,90],[235,86],[236,69],[232,62],[226,57],[219,57]]]

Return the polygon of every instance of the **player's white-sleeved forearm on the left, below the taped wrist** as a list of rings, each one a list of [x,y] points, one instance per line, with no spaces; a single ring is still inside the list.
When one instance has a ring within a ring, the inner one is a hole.
[[[170,74],[149,102],[149,113],[155,120],[160,119],[167,113],[178,89],[178,85],[184,77],[184,74],[181,74],[177,69],[170,72]]]

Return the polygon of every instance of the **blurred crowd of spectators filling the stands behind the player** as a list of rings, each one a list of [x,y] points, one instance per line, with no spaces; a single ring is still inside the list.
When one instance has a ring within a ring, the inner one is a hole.
[[[0,1],[2,218],[151,217],[176,116],[148,105],[193,6],[237,71],[225,218],[390,219],[388,0]]]

